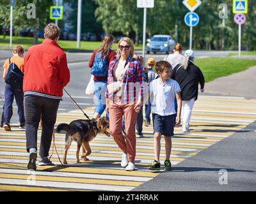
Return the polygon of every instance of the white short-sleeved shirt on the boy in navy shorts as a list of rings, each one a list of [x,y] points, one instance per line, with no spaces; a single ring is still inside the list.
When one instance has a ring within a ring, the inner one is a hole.
[[[172,79],[162,82],[160,78],[157,78],[150,83],[149,90],[153,92],[152,96],[154,96],[151,106],[152,113],[161,116],[176,113],[174,106],[175,94],[181,91],[178,82]]]

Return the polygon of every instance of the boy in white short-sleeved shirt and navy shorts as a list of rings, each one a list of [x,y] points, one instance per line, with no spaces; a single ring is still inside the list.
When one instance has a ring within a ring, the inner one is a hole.
[[[172,66],[169,62],[159,61],[156,63],[156,73],[159,78],[150,84],[150,94],[153,94],[152,115],[154,126],[154,155],[155,160],[148,167],[149,170],[160,170],[160,150],[161,136],[164,135],[166,159],[164,161],[164,170],[172,170],[170,154],[172,149],[172,139],[174,124],[180,124],[180,86],[178,82],[170,79]],[[177,117],[174,105],[174,99],[177,99],[178,110]]]

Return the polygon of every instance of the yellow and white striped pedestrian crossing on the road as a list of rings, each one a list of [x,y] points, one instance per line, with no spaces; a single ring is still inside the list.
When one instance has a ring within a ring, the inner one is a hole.
[[[256,115],[255,102],[256,100],[244,98],[199,96],[193,109],[191,132],[182,133],[182,128],[175,128],[171,155],[173,166],[188,157],[195,156],[198,152],[207,149],[214,143],[227,138],[253,122],[253,117]],[[84,111],[92,117],[94,108],[86,108]],[[57,118],[56,125],[60,122],[69,123],[74,119],[84,119],[84,116],[80,110],[74,110],[68,113],[60,113]],[[65,166],[38,166],[37,176],[39,179],[36,180],[36,185],[28,184],[28,180],[25,178],[27,177],[26,165],[28,162],[25,133],[20,131],[19,128],[12,128],[12,130],[15,132],[9,133],[0,130],[0,190],[3,191],[13,189],[19,191],[47,190],[50,186],[54,190],[61,191],[97,191],[104,189],[107,189],[106,191],[130,191],[158,175],[158,173],[147,170],[147,165],[154,159],[154,149],[152,148],[154,134],[151,125],[148,128],[143,127],[145,138],[137,138],[136,167],[138,171],[124,171],[120,167],[122,152],[116,146],[113,138],[99,135],[92,141],[93,153],[92,157],[89,156],[92,161],[76,163],[76,143],[74,142],[68,153],[70,164]],[[40,138],[40,132],[38,131],[38,139]],[[56,134],[55,136],[57,149],[61,152],[64,148],[65,135]],[[102,143],[104,145],[100,145]],[[161,145],[161,159],[164,159],[163,140]],[[52,156],[52,161],[58,163],[55,154]],[[19,178],[20,175],[21,178]],[[47,178],[44,179],[45,177]],[[79,183],[78,179],[80,177],[84,179],[84,184]],[[70,180],[70,178],[73,180]],[[138,178],[141,180],[136,180]],[[54,179],[54,181],[52,182],[51,179]],[[64,186],[66,182],[67,186]],[[122,183],[125,183],[122,186],[127,188],[121,189],[118,184]]]

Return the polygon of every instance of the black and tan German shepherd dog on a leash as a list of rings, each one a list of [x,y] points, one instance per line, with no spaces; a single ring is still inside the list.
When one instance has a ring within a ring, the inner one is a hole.
[[[77,142],[76,161],[79,163],[79,151],[83,147],[84,161],[88,161],[88,155],[92,153],[89,142],[91,142],[98,133],[109,134],[109,122],[106,117],[100,117],[98,120],[73,120],[70,124],[61,123],[57,126],[56,132],[66,131],[65,150],[63,152],[63,163],[67,164],[67,152],[73,140]]]

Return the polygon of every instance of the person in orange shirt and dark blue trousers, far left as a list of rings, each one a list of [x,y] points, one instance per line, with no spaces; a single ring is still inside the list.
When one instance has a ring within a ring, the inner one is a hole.
[[[6,74],[9,68],[10,63],[14,63],[17,65],[17,67],[24,73],[24,48],[20,45],[16,45],[13,48],[12,52],[13,56],[7,59],[4,62],[3,68],[3,81],[6,78]],[[12,108],[13,99],[15,97],[15,101],[18,107],[18,114],[19,114],[19,122],[20,126],[19,128],[25,128],[25,116],[24,116],[24,93],[22,89],[18,89],[16,87],[13,87],[10,84],[5,84],[4,89],[4,130],[5,131],[11,131],[10,127],[10,110]]]

